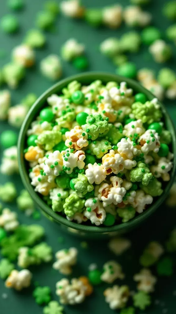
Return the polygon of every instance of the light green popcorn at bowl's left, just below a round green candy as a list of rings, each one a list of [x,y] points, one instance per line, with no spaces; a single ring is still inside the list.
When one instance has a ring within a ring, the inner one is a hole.
[[[56,144],[58,144],[62,140],[62,133],[60,131],[44,131],[41,133],[36,142],[39,145],[44,146],[44,149],[50,150]]]

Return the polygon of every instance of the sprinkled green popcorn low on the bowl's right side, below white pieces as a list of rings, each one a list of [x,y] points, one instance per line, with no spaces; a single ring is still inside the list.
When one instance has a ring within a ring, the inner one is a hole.
[[[136,168],[130,171],[130,180],[132,182],[142,182],[142,185],[148,185],[152,178],[153,174],[146,167],[146,164],[141,161],[138,161]]]

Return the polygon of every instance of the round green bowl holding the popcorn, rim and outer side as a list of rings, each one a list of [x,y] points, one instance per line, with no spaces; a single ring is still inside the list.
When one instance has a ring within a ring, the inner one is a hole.
[[[87,236],[92,238],[103,238],[103,237],[111,237],[116,236],[122,233],[126,233],[136,227],[138,227],[142,222],[144,222],[154,211],[163,203],[164,199],[168,195],[169,189],[173,184],[175,178],[175,169],[176,169],[176,136],[175,136],[175,129],[173,126],[173,122],[170,119],[166,108],[163,106],[162,103],[159,102],[162,111],[164,120],[166,123],[167,129],[171,132],[173,142],[172,142],[172,152],[174,153],[173,159],[173,168],[171,171],[171,179],[167,183],[163,194],[152,204],[150,208],[144,211],[142,214],[138,215],[136,218],[132,219],[127,223],[122,223],[120,225],[114,225],[112,227],[96,227],[96,226],[86,226],[86,225],[79,225],[75,222],[69,221],[66,218],[62,217],[54,213],[54,211],[49,208],[49,206],[40,198],[39,194],[34,192],[34,188],[31,185],[28,171],[27,171],[27,163],[24,159],[23,151],[25,149],[26,143],[26,133],[32,121],[34,121],[35,117],[38,115],[41,108],[46,104],[47,98],[53,93],[61,93],[61,90],[69,84],[73,80],[79,81],[81,84],[90,84],[92,81],[100,79],[104,84],[109,81],[116,81],[117,83],[126,81],[128,87],[132,88],[137,93],[144,93],[148,100],[152,100],[154,98],[153,94],[151,94],[147,89],[142,87],[136,81],[131,80],[129,78],[125,78],[122,76],[114,75],[111,73],[98,73],[98,72],[90,72],[90,73],[83,73],[71,76],[66,78],[54,86],[49,88],[44,94],[42,94],[38,100],[34,103],[30,111],[28,112],[23,125],[20,130],[19,139],[18,139],[18,163],[19,163],[19,172],[23,181],[25,188],[28,190],[29,194],[33,198],[34,202],[36,203],[37,207],[40,208],[43,213],[52,221],[57,222],[60,225],[60,228],[66,230],[72,234],[80,235],[80,236]]]

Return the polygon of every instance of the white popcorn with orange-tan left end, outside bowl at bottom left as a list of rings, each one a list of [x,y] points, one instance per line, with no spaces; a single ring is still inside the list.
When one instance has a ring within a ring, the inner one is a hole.
[[[15,290],[22,290],[27,288],[31,284],[32,273],[28,269],[23,270],[12,270],[7,280],[5,281],[5,286],[7,288],[14,288]]]

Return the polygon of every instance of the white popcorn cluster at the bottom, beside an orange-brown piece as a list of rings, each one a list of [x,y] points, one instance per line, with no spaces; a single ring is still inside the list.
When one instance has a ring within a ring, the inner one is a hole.
[[[87,287],[80,279],[73,278],[69,284],[66,278],[56,283],[56,295],[60,297],[61,304],[79,304],[85,300]]]

